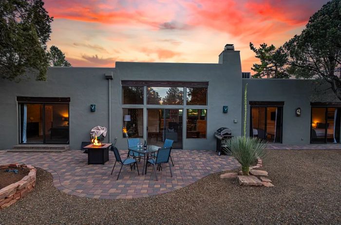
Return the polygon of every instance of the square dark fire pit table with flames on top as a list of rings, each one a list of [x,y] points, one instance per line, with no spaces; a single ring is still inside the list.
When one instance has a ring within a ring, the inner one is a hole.
[[[88,165],[89,164],[105,164],[109,161],[109,147],[112,144],[101,144],[100,146],[94,146],[90,144],[84,147],[88,150]]]

